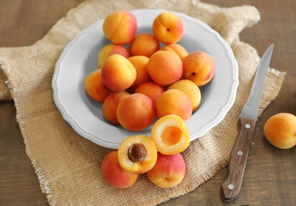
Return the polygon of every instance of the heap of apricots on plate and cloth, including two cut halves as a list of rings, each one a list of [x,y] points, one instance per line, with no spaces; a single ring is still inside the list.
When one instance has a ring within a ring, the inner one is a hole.
[[[156,186],[170,188],[184,178],[180,153],[190,143],[185,121],[198,108],[199,86],[212,80],[215,62],[202,51],[188,54],[177,43],[184,25],[173,13],[154,19],[153,35],[137,31],[137,19],[129,11],[116,10],[105,18],[103,32],[111,44],[99,52],[98,68],[86,77],[85,90],[103,102],[103,116],[113,125],[138,132],[156,122],[150,137],[127,137],[118,151],[107,154],[101,171],[115,188],[131,186],[143,173]]]

